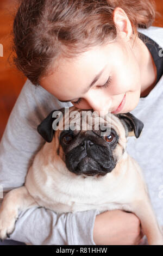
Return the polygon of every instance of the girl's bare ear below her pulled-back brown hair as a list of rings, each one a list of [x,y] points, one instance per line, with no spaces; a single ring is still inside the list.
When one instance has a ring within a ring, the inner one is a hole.
[[[133,28],[131,26],[131,22],[125,13],[125,11],[117,7],[113,12],[113,21],[118,29],[118,34],[124,39],[130,40],[133,35]]]

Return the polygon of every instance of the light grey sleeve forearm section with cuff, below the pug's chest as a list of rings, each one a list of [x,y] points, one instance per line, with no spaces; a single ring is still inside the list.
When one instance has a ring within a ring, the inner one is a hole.
[[[33,207],[19,212],[15,229],[7,240],[29,245],[96,245],[93,228],[97,214],[98,210],[56,214]]]

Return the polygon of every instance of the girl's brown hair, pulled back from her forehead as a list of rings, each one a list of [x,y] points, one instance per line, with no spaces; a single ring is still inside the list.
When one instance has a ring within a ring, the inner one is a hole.
[[[14,31],[14,63],[35,85],[62,56],[71,58],[116,38],[116,7],[129,17],[133,35],[155,19],[152,0],[22,0]]]

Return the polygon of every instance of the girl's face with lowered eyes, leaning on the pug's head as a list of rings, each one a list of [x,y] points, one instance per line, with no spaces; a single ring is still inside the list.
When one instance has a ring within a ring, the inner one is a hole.
[[[78,108],[127,113],[140,99],[140,66],[132,46],[117,40],[76,58],[59,59],[58,68],[42,78],[40,85]]]

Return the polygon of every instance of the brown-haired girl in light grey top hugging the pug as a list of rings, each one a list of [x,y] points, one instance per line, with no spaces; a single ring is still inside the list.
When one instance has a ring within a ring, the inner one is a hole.
[[[4,191],[23,185],[45,143],[36,127],[53,109],[131,112],[145,126],[141,138],[129,138],[128,153],[143,169],[163,225],[163,29],[150,27],[154,17],[153,1],[21,1],[14,60],[28,80],[1,141]],[[44,208],[20,212],[10,235],[33,245],[138,245],[142,237],[140,221],[130,212],[57,215]]]

